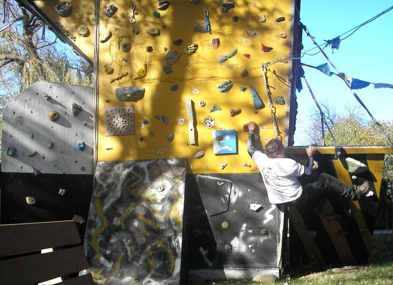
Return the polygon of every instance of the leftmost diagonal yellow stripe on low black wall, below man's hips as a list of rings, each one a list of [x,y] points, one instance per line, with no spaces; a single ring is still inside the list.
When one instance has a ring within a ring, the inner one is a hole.
[[[295,207],[289,207],[289,217],[299,235],[300,240],[302,241],[303,248],[306,255],[309,257],[310,263],[318,264],[322,267],[326,266],[321,251],[316,245],[314,239],[307,235],[309,229],[304,224],[302,216]]]

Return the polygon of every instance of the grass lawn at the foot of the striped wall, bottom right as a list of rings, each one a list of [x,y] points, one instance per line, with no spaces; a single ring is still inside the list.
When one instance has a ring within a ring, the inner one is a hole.
[[[210,281],[216,285],[349,285],[392,284],[393,285],[393,234],[374,234],[368,266],[352,266],[323,272],[308,272],[290,268],[290,278],[261,283],[252,280]],[[285,273],[284,273],[285,275]]]

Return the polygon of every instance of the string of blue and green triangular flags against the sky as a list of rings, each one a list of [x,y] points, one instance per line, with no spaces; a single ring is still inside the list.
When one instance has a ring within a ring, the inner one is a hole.
[[[345,73],[334,73],[330,71],[329,68],[329,64],[328,63],[323,63],[321,65],[318,66],[312,66],[309,64],[305,64],[305,63],[300,63],[299,64],[299,70],[300,72],[298,72],[299,77],[303,77],[302,74],[304,74],[304,70],[302,68],[302,66],[308,66],[311,68],[315,68],[319,71],[321,71],[322,73],[328,75],[328,76],[332,76],[333,74],[337,75],[339,78],[341,78],[351,89],[362,89],[367,87],[368,85],[374,85],[374,88],[393,88],[392,84],[387,84],[387,83],[372,83],[372,82],[367,82],[364,80],[360,80],[360,79],[356,79],[356,78],[352,78],[352,77],[348,77],[345,75]],[[300,89],[299,89],[300,88]],[[302,90],[302,86],[297,86],[298,91]]]

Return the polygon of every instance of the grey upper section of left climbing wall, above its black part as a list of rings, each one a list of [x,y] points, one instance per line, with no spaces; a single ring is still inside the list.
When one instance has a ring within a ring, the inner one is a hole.
[[[2,172],[92,174],[93,88],[40,81],[3,113]]]

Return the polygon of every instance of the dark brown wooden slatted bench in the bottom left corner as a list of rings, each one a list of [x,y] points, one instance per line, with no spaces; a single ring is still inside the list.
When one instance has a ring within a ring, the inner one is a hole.
[[[59,285],[93,285],[74,221],[0,225],[0,284],[37,285],[62,277]],[[53,252],[41,250],[53,248]]]

